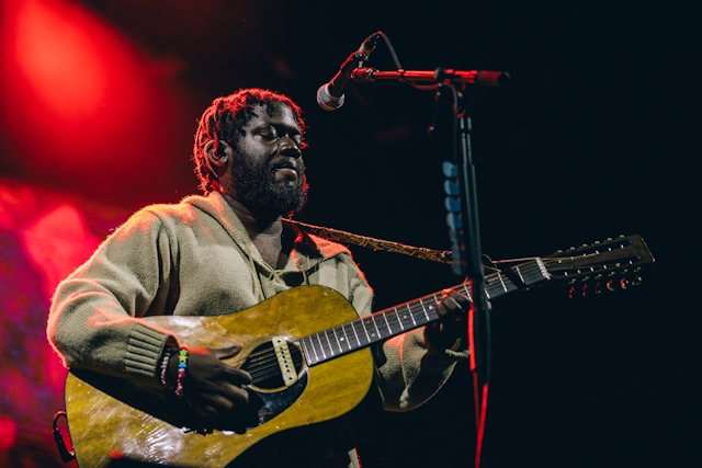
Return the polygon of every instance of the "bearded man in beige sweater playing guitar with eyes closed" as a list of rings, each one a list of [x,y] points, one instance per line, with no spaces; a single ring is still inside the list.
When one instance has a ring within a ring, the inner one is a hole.
[[[302,284],[333,288],[359,316],[370,313],[372,289],[350,252],[283,227],[282,216],[307,197],[304,128],[284,95],[245,89],[216,99],[200,119],[193,153],[206,196],[140,210],[58,286],[47,334],[64,363],[176,392],[205,423],[244,421],[256,412],[246,391],[251,376],[222,363],[241,346],[190,349],[181,359],[179,336],[141,317],[239,311]],[[448,294],[441,323],[376,350],[386,409],[415,408],[443,385],[466,354],[468,307]],[[337,454],[321,464],[358,460]]]

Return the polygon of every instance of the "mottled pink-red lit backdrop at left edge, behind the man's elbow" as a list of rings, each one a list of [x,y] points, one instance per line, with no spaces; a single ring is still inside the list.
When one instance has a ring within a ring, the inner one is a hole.
[[[0,179],[0,466],[48,466],[12,450],[55,453],[47,418],[63,408],[67,370],[46,340],[50,297],[128,213]]]

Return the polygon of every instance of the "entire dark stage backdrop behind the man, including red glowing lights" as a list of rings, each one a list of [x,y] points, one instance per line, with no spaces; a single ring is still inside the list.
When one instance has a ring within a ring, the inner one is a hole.
[[[546,286],[492,304],[483,466],[700,464],[699,324],[686,300],[694,261],[684,253],[697,252],[687,235],[699,214],[690,182],[699,150],[686,144],[697,132],[692,9],[316,0],[0,8],[0,465],[63,466],[50,436],[66,375],[46,342],[54,288],[136,209],[197,193],[193,134],[214,98],[260,87],[301,105],[310,198],[295,219],[450,249],[441,172],[452,157],[449,115],[442,109],[430,138],[433,92],[377,81],[350,83],[333,113],[315,100],[378,30],[406,69],[511,75],[502,88],[468,88],[485,253],[547,255],[639,233],[656,258],[638,287],[569,299],[567,288]],[[382,41],[369,66],[394,70]],[[375,290],[374,310],[462,281],[443,264],[351,250]],[[384,414],[382,436],[359,447],[363,467],[472,466],[474,418],[472,377],[460,363],[428,403]]]

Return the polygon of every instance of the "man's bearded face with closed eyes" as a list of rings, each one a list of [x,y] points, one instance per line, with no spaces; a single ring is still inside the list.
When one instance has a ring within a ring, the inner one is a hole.
[[[307,201],[307,181],[301,144],[302,132],[283,103],[254,107],[245,135],[230,152],[230,183],[225,191],[250,209],[285,215]]]

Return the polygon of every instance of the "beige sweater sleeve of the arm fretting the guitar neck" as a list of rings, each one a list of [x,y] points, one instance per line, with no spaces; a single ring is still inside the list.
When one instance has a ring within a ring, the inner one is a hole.
[[[350,270],[351,304],[359,316],[371,313],[373,290],[363,273],[348,258]],[[455,363],[467,357],[467,350],[444,353],[427,350],[423,328],[403,333],[374,349],[378,380],[385,409],[409,411],[429,400],[451,376]]]

